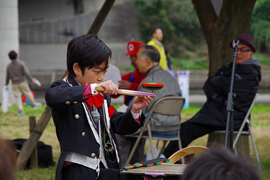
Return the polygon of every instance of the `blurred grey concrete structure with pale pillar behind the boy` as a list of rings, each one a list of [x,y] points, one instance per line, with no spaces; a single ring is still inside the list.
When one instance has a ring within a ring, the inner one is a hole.
[[[1,84],[10,62],[7,54],[15,50],[42,83],[41,87],[32,85],[35,93],[43,94],[51,82],[64,75],[68,42],[87,34],[104,1],[1,0]],[[140,38],[135,19],[133,1],[116,0],[98,32],[98,37],[113,51],[111,63],[118,67],[130,65],[125,56],[126,44]]]

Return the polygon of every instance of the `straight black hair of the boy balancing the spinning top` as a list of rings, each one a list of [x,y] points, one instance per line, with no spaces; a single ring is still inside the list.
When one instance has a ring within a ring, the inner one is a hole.
[[[104,44],[97,35],[81,35],[73,38],[67,45],[67,71],[72,77],[76,74],[73,71],[73,64],[78,63],[84,74],[85,68],[99,66],[105,62],[106,70],[109,64],[109,57],[112,57],[111,49]]]

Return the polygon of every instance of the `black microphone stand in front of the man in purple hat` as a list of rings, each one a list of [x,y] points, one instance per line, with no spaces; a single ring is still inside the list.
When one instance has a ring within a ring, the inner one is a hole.
[[[235,98],[235,94],[232,93],[233,89],[233,81],[234,81],[234,73],[235,73],[235,59],[237,56],[237,45],[239,44],[239,40],[235,43],[234,40],[232,42],[233,49],[233,60],[232,60],[232,75],[231,75],[231,84],[230,91],[228,93],[228,100],[226,101],[226,111],[227,111],[227,121],[226,121],[226,133],[225,133],[225,148],[227,148],[228,142],[228,131],[230,131],[230,150],[233,151],[233,98]]]

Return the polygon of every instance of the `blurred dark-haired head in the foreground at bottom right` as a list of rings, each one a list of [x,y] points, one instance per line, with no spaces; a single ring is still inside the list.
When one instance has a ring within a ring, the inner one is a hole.
[[[213,148],[195,158],[181,180],[260,180],[260,177],[244,158],[223,148]]]

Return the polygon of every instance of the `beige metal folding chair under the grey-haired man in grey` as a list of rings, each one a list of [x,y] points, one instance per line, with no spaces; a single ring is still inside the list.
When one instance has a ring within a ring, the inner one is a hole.
[[[170,115],[170,116],[176,116],[179,115],[184,107],[185,103],[185,98],[180,97],[180,96],[166,96],[163,98],[160,98],[158,101],[155,102],[155,104],[152,106],[151,110],[149,111],[148,116],[146,117],[146,121],[144,123],[143,128],[140,130],[139,135],[138,134],[131,134],[131,135],[126,135],[125,137],[134,137],[137,138],[129,156],[128,160],[126,161],[125,166],[128,166],[129,162],[131,161],[132,156],[134,155],[134,152],[142,138],[149,138],[150,140],[150,146],[152,150],[152,157],[155,159],[155,154],[154,154],[154,146],[153,146],[153,139],[156,140],[163,140],[163,147],[158,155],[158,158],[162,154],[162,152],[165,149],[165,145],[167,141],[173,141],[173,140],[178,140],[178,146],[179,149],[182,149],[181,145],[181,139],[180,139],[180,130],[178,130],[177,135],[175,136],[164,136],[164,135],[152,135],[151,133],[151,128],[149,125],[149,121],[151,119],[151,116],[153,113],[159,113],[159,114],[164,114],[164,115]],[[148,132],[147,135],[144,135],[144,132]],[[182,160],[182,163],[184,161]]]

